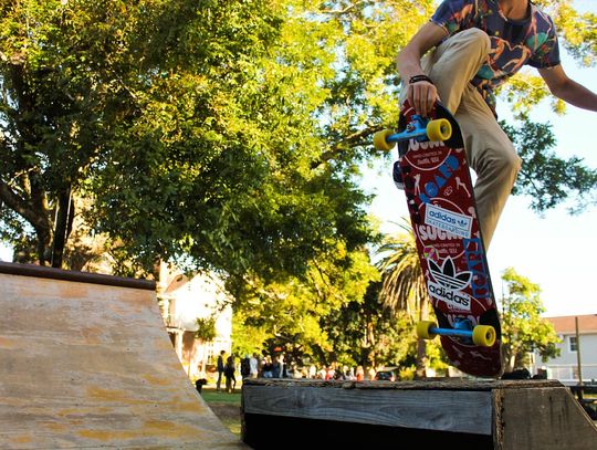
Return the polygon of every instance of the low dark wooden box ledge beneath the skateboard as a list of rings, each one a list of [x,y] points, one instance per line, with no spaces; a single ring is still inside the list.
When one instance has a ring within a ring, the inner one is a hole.
[[[293,448],[597,449],[597,428],[558,381],[250,379],[242,418],[260,450],[284,436]]]

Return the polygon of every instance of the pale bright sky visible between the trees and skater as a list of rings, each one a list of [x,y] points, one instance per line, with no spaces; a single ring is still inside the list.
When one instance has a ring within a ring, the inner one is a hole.
[[[597,13],[597,1],[588,10]],[[597,92],[597,67],[579,67],[566,54],[562,64],[568,76]],[[499,105],[498,114],[507,119],[505,103]],[[597,168],[597,113],[568,105],[567,114],[558,116],[545,102],[533,109],[531,119],[553,125],[557,156],[575,155]],[[377,165],[363,182],[368,192],[377,195],[370,213],[381,221],[381,231],[389,233],[398,231],[396,223],[408,217],[404,192],[394,187],[390,170],[391,163]],[[496,299],[502,297],[502,273],[512,266],[540,285],[544,316],[597,314],[597,283],[593,285],[597,281],[597,207],[587,206],[582,213],[569,216],[564,205],[538,216],[530,205],[530,198],[510,197],[488,252]]]

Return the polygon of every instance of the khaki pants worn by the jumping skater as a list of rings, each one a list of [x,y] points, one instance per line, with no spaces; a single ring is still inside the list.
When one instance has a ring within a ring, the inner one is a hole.
[[[474,196],[485,249],[521,168],[512,143],[479,91],[469,83],[490,49],[484,31],[469,29],[446,40],[421,60],[441,103],[454,114],[462,129],[467,158],[476,174]],[[401,97],[405,96],[402,90]]]

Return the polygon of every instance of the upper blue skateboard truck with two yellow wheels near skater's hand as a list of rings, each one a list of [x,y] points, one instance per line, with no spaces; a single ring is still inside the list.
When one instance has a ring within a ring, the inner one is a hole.
[[[452,125],[446,118],[429,119],[415,114],[401,133],[383,129],[374,135],[374,146],[378,150],[389,151],[396,143],[416,139],[419,143],[447,140],[452,136]]]

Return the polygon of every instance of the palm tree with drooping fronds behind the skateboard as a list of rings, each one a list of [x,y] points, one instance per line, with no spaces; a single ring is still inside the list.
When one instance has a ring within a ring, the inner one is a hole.
[[[419,253],[412,229],[407,219],[398,224],[402,232],[387,237],[378,249],[381,259],[377,269],[381,273],[381,301],[394,312],[406,311],[415,325],[429,316],[427,285],[419,263]],[[417,344],[417,377],[425,377],[427,343]]]

